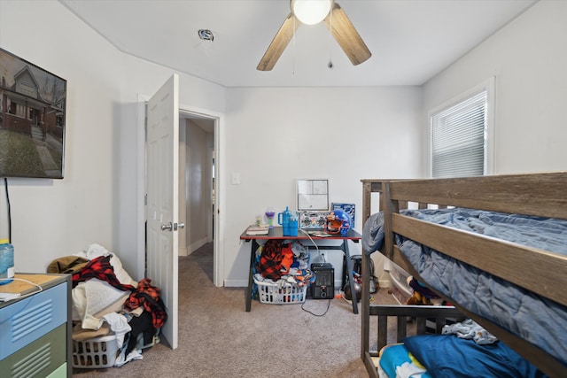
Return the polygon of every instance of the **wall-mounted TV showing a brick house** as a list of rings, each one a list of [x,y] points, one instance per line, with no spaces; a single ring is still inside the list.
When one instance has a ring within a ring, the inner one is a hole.
[[[0,48],[0,177],[63,178],[66,85]]]

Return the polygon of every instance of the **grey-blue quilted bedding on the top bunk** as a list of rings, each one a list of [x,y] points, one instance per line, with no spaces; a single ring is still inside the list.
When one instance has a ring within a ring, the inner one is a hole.
[[[567,255],[567,220],[469,209],[406,210],[421,220],[489,235]],[[377,251],[384,241],[384,218],[373,214],[364,224],[362,248]],[[538,345],[567,366],[567,307],[505,282],[396,235],[400,251],[431,288],[512,333]],[[537,274],[545,274],[539,272]]]

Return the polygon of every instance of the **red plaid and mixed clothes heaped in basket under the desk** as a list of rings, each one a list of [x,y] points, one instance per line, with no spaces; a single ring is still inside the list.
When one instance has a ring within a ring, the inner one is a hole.
[[[254,279],[257,282],[286,283],[303,287],[315,282],[315,274],[309,270],[307,248],[296,240],[268,239],[256,251]]]

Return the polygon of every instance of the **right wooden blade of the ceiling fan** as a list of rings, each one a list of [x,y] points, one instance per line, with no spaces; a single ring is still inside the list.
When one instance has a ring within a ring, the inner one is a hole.
[[[337,3],[325,18],[325,25],[354,66],[360,65],[372,56],[366,43],[362,41],[361,35],[358,34],[351,20],[346,17],[345,11]]]

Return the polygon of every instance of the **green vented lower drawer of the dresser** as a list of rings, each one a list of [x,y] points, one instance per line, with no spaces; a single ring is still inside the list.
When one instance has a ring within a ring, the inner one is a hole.
[[[3,378],[45,377],[66,366],[66,324],[0,361]]]

